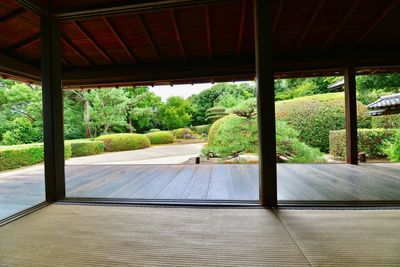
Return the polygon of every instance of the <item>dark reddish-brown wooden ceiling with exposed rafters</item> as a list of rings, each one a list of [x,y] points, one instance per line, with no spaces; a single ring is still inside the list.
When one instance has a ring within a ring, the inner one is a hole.
[[[0,73],[40,80],[40,13],[48,1],[0,2]],[[273,0],[277,78],[398,71],[400,0]],[[53,0],[63,85],[254,79],[251,0]],[[2,63],[3,62],[3,63]],[[35,74],[36,73],[36,74]]]

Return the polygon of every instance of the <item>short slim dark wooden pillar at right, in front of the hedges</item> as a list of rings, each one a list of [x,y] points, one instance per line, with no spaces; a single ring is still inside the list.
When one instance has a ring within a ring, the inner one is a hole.
[[[346,162],[358,164],[356,75],[353,65],[344,68],[346,109]]]

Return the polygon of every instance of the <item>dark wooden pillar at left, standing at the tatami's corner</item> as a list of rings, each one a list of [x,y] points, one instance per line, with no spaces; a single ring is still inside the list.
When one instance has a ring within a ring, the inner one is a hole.
[[[65,198],[60,29],[49,15],[40,23],[46,200],[54,202]]]

